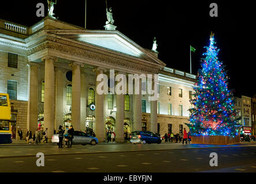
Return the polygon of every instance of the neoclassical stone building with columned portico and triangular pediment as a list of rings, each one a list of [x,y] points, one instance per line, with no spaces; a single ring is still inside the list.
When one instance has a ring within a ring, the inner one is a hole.
[[[118,30],[88,30],[46,17],[26,27],[0,20],[0,93],[12,99],[13,136],[17,129],[50,136],[59,125],[107,129],[123,141],[124,132],[179,133],[188,121],[196,76],[165,67],[157,52],[140,47]],[[97,93],[97,75],[159,74],[159,99],[142,94]]]

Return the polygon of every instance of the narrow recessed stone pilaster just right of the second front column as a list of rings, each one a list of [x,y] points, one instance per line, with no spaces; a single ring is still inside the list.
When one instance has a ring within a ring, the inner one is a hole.
[[[86,74],[81,73],[81,122],[80,129],[82,131],[86,130],[86,97],[87,97],[87,79]]]

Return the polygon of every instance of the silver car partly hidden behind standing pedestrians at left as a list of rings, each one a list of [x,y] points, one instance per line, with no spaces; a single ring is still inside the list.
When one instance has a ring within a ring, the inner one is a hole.
[[[51,142],[52,143],[59,143],[58,134],[54,134],[53,137],[51,137]],[[95,144],[98,144],[98,142],[99,141],[98,141],[97,137],[92,137],[92,136],[88,135],[87,133],[84,133],[84,132],[81,132],[81,131],[74,131],[73,144],[81,144],[81,145],[91,144],[91,145],[95,145]]]

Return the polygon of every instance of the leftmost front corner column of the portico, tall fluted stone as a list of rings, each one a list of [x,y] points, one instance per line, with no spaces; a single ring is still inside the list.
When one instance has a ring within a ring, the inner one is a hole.
[[[48,138],[53,136],[54,129],[54,62],[56,57],[43,57],[44,61],[44,130],[48,128]]]

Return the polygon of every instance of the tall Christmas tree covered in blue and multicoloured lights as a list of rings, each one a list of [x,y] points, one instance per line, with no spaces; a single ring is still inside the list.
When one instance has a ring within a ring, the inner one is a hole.
[[[222,62],[218,60],[219,49],[215,46],[214,34],[210,36],[210,45],[205,47],[204,59],[198,71],[194,98],[189,109],[190,128],[193,136],[237,136],[240,124],[233,108],[233,94],[228,90],[228,77]]]

